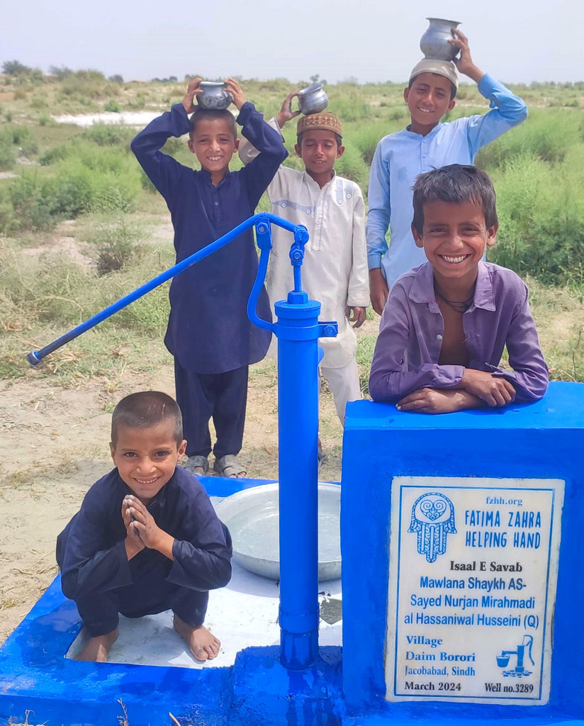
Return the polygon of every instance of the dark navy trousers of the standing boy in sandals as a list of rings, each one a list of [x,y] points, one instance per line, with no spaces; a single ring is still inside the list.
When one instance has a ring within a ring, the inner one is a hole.
[[[195,373],[174,359],[176,402],[183,415],[187,456],[208,456],[211,452],[209,421],[213,418],[217,441],[215,459],[239,454],[242,449],[247,375],[244,366],[225,373]]]

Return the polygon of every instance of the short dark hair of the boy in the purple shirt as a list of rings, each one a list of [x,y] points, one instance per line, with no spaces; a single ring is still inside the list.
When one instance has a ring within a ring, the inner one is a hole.
[[[414,182],[414,220],[420,234],[424,229],[424,204],[473,202],[482,206],[487,227],[497,224],[495,187],[482,169],[466,164],[448,164],[416,176]]]

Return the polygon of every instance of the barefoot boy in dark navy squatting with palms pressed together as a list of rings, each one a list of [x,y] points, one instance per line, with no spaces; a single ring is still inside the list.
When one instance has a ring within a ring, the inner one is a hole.
[[[219,652],[202,623],[208,591],[231,579],[231,537],[197,478],[177,466],[185,447],[181,411],[166,393],[132,393],[115,407],[116,468],[57,538],[63,594],[90,635],[79,660],[107,661],[118,613],[169,609],[195,658]]]

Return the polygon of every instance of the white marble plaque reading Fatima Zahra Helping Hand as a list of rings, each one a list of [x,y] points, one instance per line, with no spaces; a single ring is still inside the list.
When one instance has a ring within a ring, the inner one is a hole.
[[[564,481],[395,477],[388,701],[547,703]]]

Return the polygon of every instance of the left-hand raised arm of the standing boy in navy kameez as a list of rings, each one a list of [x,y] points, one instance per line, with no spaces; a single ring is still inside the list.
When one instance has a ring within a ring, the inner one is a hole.
[[[183,136],[192,131],[192,123],[187,114],[194,111],[193,99],[200,93],[200,78],[189,82],[181,103],[173,105],[170,111],[150,121],[148,126],[134,137],[131,150],[152,184],[168,202],[173,198],[180,185],[181,169],[187,169],[168,154],[160,150],[171,136]],[[187,171],[192,171],[187,169]]]

